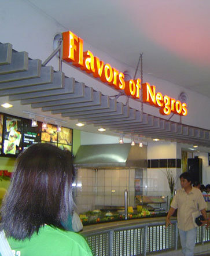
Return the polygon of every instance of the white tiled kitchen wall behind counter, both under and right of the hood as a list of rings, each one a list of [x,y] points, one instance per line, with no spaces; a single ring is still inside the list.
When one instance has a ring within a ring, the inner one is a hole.
[[[171,168],[174,176],[179,170]],[[92,170],[78,169],[75,188],[75,203],[78,212],[85,212],[109,206],[124,206],[124,190],[128,190],[128,205],[135,206],[135,170]],[[179,188],[179,179],[177,179]],[[164,170],[143,171],[143,194],[170,198],[170,189]]]

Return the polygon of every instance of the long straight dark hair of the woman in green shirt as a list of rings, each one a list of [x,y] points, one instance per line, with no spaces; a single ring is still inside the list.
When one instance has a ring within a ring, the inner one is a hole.
[[[1,230],[23,240],[47,224],[64,229],[71,214],[74,168],[72,154],[38,143],[19,155],[8,193],[3,200]]]

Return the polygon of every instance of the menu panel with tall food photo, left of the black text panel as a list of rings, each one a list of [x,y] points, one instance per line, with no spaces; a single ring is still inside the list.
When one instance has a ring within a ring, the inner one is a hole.
[[[5,116],[3,124],[3,154],[17,156],[21,150],[22,119]]]

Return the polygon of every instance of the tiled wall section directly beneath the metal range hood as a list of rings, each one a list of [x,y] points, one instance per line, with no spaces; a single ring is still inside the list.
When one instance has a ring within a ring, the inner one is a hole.
[[[128,190],[128,204],[134,206],[134,179],[134,169],[78,169],[74,190],[77,211],[124,206],[125,189]]]

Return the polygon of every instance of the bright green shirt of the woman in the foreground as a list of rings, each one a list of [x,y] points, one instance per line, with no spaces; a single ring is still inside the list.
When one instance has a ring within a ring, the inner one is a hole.
[[[8,239],[14,256],[93,256],[84,238],[75,232],[43,226],[24,241]]]

